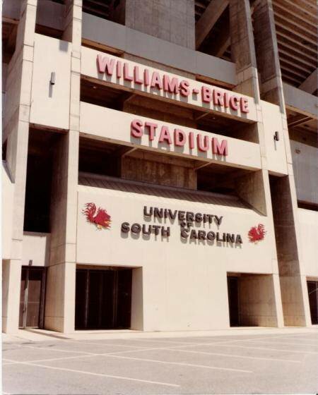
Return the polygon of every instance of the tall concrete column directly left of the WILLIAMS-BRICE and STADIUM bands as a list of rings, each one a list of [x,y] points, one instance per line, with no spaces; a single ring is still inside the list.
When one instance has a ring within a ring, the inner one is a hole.
[[[82,1],[69,1],[66,13],[64,39],[72,45],[69,131],[61,136],[54,160],[45,328],[71,333],[75,327]]]

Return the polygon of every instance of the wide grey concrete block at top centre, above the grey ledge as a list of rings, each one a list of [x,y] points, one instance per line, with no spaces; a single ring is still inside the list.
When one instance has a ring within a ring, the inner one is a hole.
[[[114,15],[128,28],[195,49],[194,0],[126,0]]]

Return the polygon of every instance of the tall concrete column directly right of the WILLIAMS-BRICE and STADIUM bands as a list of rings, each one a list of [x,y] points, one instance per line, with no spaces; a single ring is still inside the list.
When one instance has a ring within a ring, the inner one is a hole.
[[[268,233],[272,239],[273,296],[275,298],[276,324],[281,327],[283,325],[283,310],[279,283],[275,281],[275,276],[278,275],[278,261],[251,9],[248,0],[230,0],[229,6],[232,61],[235,61],[237,73],[237,86],[234,90],[243,95],[254,97],[257,107],[257,122],[253,126],[248,126],[247,131],[249,134],[254,133],[255,140],[259,142],[262,166],[261,171],[240,178],[237,189],[244,200],[270,219]]]

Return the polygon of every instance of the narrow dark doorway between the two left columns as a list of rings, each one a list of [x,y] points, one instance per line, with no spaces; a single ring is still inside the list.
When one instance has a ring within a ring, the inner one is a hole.
[[[45,268],[22,267],[19,327],[43,327]]]

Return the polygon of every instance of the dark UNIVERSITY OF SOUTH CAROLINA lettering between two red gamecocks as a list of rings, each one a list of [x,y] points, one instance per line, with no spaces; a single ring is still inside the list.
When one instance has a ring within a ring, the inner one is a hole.
[[[122,223],[122,233],[132,233],[134,235],[141,233],[146,236],[154,235],[168,238],[171,234],[170,226],[163,226],[160,224],[160,222],[167,221],[170,222],[170,224],[177,222],[179,225],[180,237],[184,240],[217,241],[239,245],[243,243],[240,234],[218,231],[219,226],[223,222],[223,216],[218,217],[216,214],[144,206],[143,218],[145,221],[156,221],[157,223],[139,224],[134,222],[130,224],[125,221]],[[206,227],[208,230],[194,229],[194,226],[196,228],[199,226],[202,228]]]

